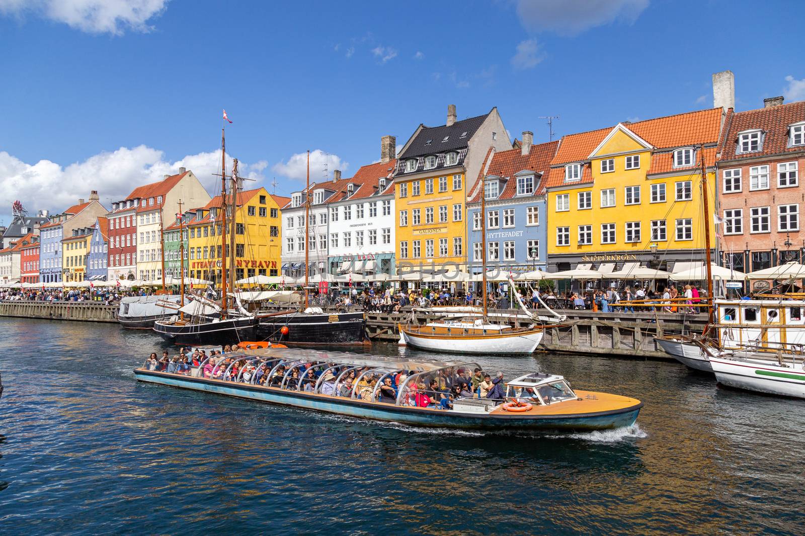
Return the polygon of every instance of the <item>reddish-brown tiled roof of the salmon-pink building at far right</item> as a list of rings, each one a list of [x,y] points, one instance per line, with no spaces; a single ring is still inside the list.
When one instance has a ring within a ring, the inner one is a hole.
[[[720,160],[803,152],[803,145],[788,146],[788,125],[800,121],[805,121],[805,100],[733,113],[729,117],[729,130],[723,138]],[[765,133],[762,150],[737,154],[738,133],[752,129],[761,129]]]

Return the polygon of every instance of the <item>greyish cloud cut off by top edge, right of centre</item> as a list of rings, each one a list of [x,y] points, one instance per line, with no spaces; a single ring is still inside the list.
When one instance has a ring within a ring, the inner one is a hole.
[[[517,0],[517,13],[531,31],[576,35],[621,20],[634,23],[649,0]]]

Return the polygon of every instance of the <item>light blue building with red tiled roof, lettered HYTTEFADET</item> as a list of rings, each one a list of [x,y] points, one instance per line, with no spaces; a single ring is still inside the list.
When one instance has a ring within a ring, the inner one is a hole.
[[[486,157],[467,203],[469,264],[481,273],[481,194],[486,205],[486,267],[529,272],[547,267],[547,210],[543,175],[551,166],[559,141],[532,145],[522,133],[519,147]],[[515,144],[517,145],[517,144]],[[483,184],[483,188],[481,188]]]

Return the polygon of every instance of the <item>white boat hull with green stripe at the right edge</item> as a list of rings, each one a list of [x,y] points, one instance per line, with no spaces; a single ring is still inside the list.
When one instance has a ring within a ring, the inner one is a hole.
[[[719,383],[768,395],[805,399],[805,370],[768,362],[710,358]]]

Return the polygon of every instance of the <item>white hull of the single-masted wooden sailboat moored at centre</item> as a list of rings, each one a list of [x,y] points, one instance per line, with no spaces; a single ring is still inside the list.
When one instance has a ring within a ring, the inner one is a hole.
[[[532,354],[543,340],[542,330],[473,336],[415,333],[403,326],[399,331],[401,345],[452,354]]]

